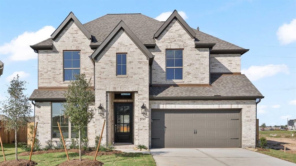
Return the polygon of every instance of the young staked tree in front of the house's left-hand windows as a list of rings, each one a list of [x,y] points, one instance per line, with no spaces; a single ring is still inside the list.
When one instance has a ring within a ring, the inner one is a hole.
[[[81,160],[81,130],[94,118],[95,108],[89,107],[94,101],[94,89],[91,89],[91,79],[87,80],[86,75],[75,74],[75,81],[71,81],[64,94],[66,102],[64,114],[73,123],[79,136],[79,160]]]

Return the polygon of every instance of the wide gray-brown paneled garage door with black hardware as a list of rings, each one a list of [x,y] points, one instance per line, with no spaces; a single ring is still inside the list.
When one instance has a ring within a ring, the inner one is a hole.
[[[152,110],[153,148],[240,147],[240,110]]]

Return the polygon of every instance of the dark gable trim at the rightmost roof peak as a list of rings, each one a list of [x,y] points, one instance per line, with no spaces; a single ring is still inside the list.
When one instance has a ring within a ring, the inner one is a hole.
[[[180,25],[184,28],[184,30],[188,33],[188,35],[194,39],[196,36],[196,33],[192,30],[191,27],[184,21],[184,19],[178,14],[177,10],[174,10],[174,12],[168,17],[168,19],[163,23],[163,25],[157,30],[157,32],[154,34],[154,38],[158,38],[159,35],[165,30],[166,27],[172,22],[173,19],[177,19]]]

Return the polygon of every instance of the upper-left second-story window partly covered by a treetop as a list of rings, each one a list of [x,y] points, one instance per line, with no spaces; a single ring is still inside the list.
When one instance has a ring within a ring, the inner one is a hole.
[[[64,51],[64,81],[75,80],[80,74],[80,51]]]

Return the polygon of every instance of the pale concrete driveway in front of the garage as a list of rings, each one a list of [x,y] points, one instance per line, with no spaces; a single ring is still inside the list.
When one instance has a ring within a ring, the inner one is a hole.
[[[295,166],[281,160],[247,149],[151,149],[157,166]]]

